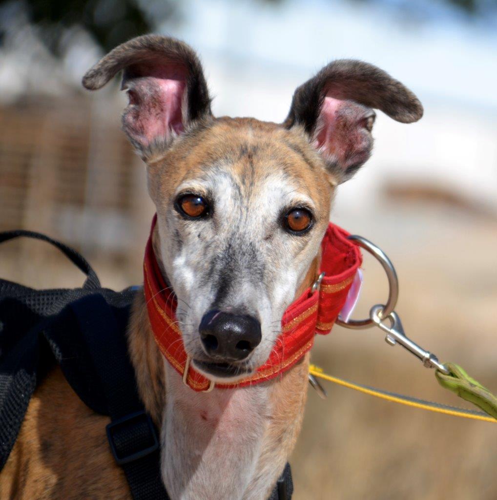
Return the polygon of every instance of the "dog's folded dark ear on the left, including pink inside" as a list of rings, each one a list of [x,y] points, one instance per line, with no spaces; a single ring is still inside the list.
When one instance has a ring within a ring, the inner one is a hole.
[[[212,115],[202,66],[185,43],[166,36],[138,36],[100,59],[82,84],[97,90],[121,69],[121,90],[126,89],[129,97],[122,127],[142,158]]]

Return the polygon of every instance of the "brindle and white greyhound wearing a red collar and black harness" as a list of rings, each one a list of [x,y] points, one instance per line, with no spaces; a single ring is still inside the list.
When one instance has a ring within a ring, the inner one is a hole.
[[[295,90],[282,123],[214,117],[195,52],[158,35],[114,48],[83,85],[99,89],[121,70],[122,127],[146,164],[151,244],[184,351],[213,383],[234,384],[207,392],[182,383],[137,294],[128,349],[160,428],[162,480],[172,500],[264,500],[300,430],[309,355],[280,377],[236,382],[266,361],[285,308],[315,280],[335,188],[370,155],[373,109],[409,123],[422,106],[383,70],[336,60]],[[4,498],[129,497],[107,421],[54,369],[1,474]]]

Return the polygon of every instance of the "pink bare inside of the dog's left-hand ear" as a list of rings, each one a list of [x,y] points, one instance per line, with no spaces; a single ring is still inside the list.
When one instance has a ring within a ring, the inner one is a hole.
[[[186,74],[182,66],[165,67],[137,65],[137,76],[129,78],[129,104],[124,111],[123,124],[129,135],[141,146],[154,139],[167,140],[171,132],[184,130],[182,100],[186,87]]]

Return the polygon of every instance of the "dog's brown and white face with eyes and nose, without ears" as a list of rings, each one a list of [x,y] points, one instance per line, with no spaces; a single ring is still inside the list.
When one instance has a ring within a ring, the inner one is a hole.
[[[179,300],[185,348],[209,376],[246,376],[267,359],[318,251],[330,188],[308,149],[301,133],[225,118],[185,137],[150,172],[156,251]]]

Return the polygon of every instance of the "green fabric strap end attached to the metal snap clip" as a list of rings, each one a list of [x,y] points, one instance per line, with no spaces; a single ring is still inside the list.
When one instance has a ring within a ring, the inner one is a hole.
[[[485,413],[497,420],[497,397],[474,378],[471,378],[458,364],[444,363],[450,373],[435,371],[438,383],[462,399],[479,406]]]

